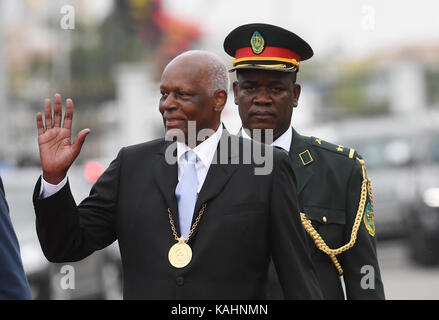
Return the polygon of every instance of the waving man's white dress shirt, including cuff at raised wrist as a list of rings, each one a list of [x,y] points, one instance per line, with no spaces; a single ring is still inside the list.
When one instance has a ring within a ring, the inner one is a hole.
[[[220,124],[216,132],[211,135],[209,138],[201,142],[198,146],[192,149],[197,155],[197,162],[195,163],[195,169],[197,170],[197,178],[198,178],[198,193],[200,193],[201,187],[203,186],[204,180],[206,180],[207,172],[209,171],[210,165],[213,160],[213,156],[215,155],[216,148],[218,146],[219,140],[221,139],[221,135],[223,134],[223,125]],[[187,160],[184,157],[184,153],[190,148],[181,142],[177,142],[177,163],[178,163],[178,181],[183,176],[184,167],[187,163]],[[59,190],[61,190],[65,184],[67,183],[67,176],[64,179],[54,185],[48,183],[44,180],[43,176],[41,176],[41,188],[40,188],[40,197],[47,198],[51,195],[54,195]]]

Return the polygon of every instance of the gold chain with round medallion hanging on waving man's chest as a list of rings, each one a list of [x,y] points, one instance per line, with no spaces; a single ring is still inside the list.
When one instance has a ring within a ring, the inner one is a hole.
[[[206,205],[207,204],[204,203],[200,209],[200,212],[198,212],[198,217],[195,219],[195,222],[192,225],[192,228],[189,231],[187,238],[184,238],[183,236],[178,237],[177,231],[175,230],[174,220],[172,219],[171,209],[168,208],[169,222],[171,223],[171,229],[174,235],[174,239],[177,241],[177,243],[174,244],[171,249],[169,249],[168,259],[169,262],[176,268],[186,267],[192,260],[192,249],[186,242],[192,236],[192,233],[200,222],[201,216],[204,213],[204,209],[206,209]]]

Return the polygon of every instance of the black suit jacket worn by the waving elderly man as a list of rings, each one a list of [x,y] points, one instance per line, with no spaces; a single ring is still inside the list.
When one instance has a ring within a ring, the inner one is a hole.
[[[227,141],[242,146],[242,139],[224,130],[217,155]],[[165,161],[171,144],[159,139],[123,148],[79,206],[68,184],[39,199],[39,181],[34,205],[46,257],[76,261],[118,239],[124,298],[264,299],[272,256],[287,298],[320,298],[294,174],[288,155],[279,151],[268,175],[255,175],[255,164],[211,165],[194,211],[195,218],[207,203],[189,240],[192,261],[182,269],[170,265],[168,251],[176,241],[168,208],[179,230],[177,164]],[[236,151],[227,159],[243,162]]]

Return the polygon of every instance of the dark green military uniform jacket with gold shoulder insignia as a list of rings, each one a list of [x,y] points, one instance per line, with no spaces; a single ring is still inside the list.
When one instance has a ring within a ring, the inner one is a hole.
[[[327,247],[340,248],[351,240],[359,207],[363,169],[353,149],[293,129],[290,157],[297,180],[301,212]],[[343,270],[347,299],[384,299],[377,260],[373,204],[367,194],[354,245],[336,255]],[[365,212],[365,213],[364,213]],[[339,272],[330,257],[309,238],[312,258],[325,299],[344,299]],[[271,271],[271,298],[282,298]]]

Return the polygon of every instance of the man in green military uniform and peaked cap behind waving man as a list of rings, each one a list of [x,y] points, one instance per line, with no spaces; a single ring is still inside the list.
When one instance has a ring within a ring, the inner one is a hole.
[[[354,149],[302,136],[290,127],[300,95],[299,62],[311,58],[312,48],[288,30],[256,23],[233,30],[224,49],[235,58],[231,71],[237,72],[233,90],[241,134],[258,139],[255,129],[272,129],[273,145],[290,155],[324,297],[384,299],[364,161]],[[274,271],[270,277],[272,297],[281,298]]]

